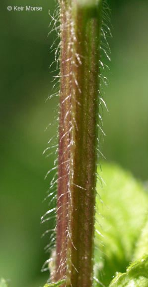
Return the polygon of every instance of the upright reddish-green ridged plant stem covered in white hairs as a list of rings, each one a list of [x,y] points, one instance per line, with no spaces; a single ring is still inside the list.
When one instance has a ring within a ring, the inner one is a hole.
[[[55,280],[65,278],[66,287],[91,287],[102,1],[59,2],[61,83]]]

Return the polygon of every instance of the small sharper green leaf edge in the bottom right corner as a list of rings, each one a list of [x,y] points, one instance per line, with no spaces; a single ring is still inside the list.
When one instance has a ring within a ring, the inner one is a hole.
[[[132,263],[126,273],[118,274],[109,287],[148,287],[148,256]]]

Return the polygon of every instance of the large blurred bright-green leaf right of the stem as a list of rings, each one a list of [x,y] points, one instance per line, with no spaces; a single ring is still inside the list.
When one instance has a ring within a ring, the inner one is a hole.
[[[108,286],[116,272],[126,272],[133,260],[148,254],[148,192],[115,164],[102,164],[102,170],[106,186],[97,184],[95,260],[97,277]]]

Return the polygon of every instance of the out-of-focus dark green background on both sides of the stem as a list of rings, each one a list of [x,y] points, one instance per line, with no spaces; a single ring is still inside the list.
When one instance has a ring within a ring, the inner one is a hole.
[[[148,187],[148,1],[110,0],[113,38],[109,87],[104,111],[103,154],[132,171]],[[52,157],[42,155],[56,130],[45,128],[54,117],[54,60],[48,35],[55,1],[3,0],[0,4],[0,276],[11,287],[38,287],[48,273],[41,239],[48,224],[40,217],[49,187]],[[42,6],[43,11],[8,11],[8,5]],[[106,61],[106,60],[105,60]]]

